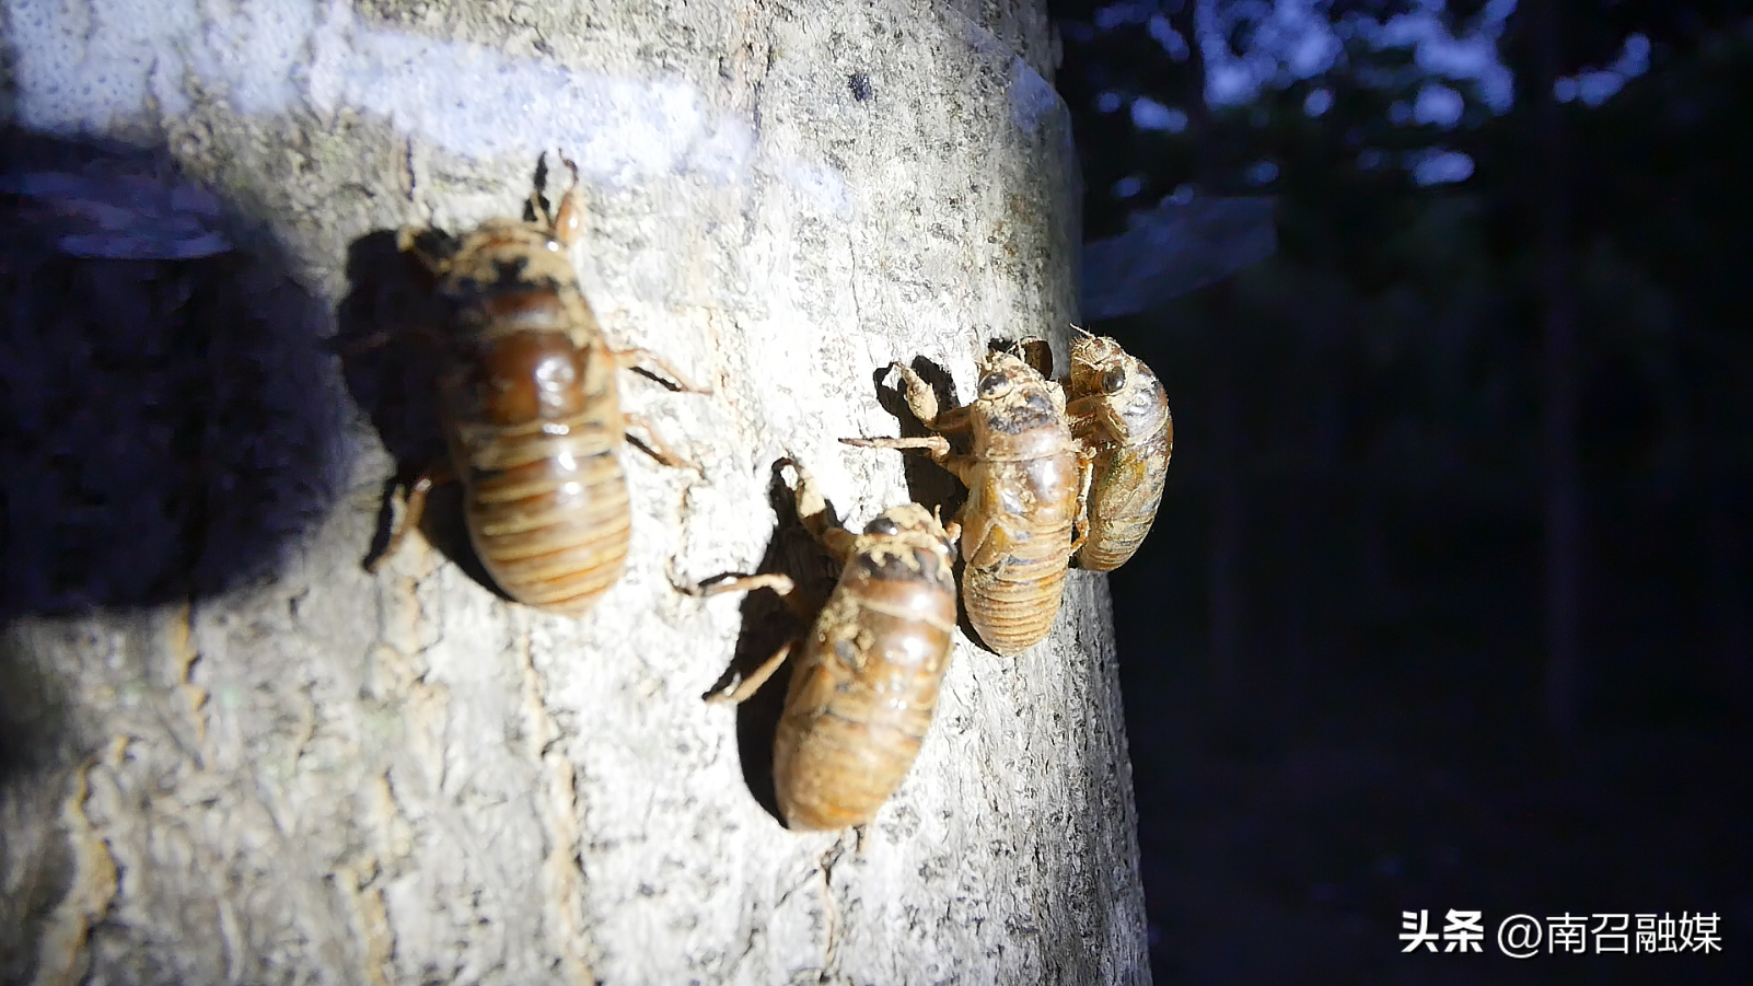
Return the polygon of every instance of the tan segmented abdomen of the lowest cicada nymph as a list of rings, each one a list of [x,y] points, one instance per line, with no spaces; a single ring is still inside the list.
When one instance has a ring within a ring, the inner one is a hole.
[[[931,598],[896,605],[913,591]],[[834,595],[792,674],[773,740],[775,795],[796,830],[864,825],[901,786],[931,726],[955,630],[954,582],[941,591],[875,582]]]

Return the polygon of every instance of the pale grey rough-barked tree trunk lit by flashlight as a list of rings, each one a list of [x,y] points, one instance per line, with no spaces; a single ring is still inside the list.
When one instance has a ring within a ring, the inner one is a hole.
[[[11,600],[7,981],[1150,981],[1103,575],[1073,572],[1052,637],[1013,660],[959,637],[901,790],[869,826],[817,835],[763,807],[771,721],[701,702],[733,653],[784,633],[668,575],[784,554],[780,456],[848,523],[910,498],[901,456],[834,440],[894,433],[873,384],[887,361],[926,356],[966,397],[989,339],[1052,333],[1064,360],[1078,198],[1045,5],[961,7],[9,0],[21,125],[158,144],[272,233],[91,270],[133,265],[163,304],[195,305],[165,288],[177,265],[284,247],[316,321],[340,305],[345,328],[361,305],[412,304],[372,282],[387,230],[515,216],[559,147],[584,168],[575,260],[610,339],[713,393],[626,377],[624,405],[701,470],[622,453],[633,549],[582,619],[498,598],[421,537],[361,568],[393,472],[387,398],[365,407],[377,426],[349,412],[345,454],[309,475],[196,475],[182,602],[163,582]],[[207,421],[184,470],[279,461],[287,428],[326,447],[326,330],[286,356],[300,337],[279,302],[296,298],[245,295],[258,307],[216,323],[186,389],[265,367],[258,397],[289,416],[224,440]],[[303,365],[316,375],[287,382]],[[114,442],[95,432],[84,454],[135,437],[105,425]],[[342,495],[296,539],[263,512],[214,532],[324,470]],[[124,500],[156,495],[138,482]],[[53,547],[61,528],[19,525],[21,497],[12,544]],[[156,530],[147,514],[117,540]],[[228,565],[238,539],[286,539],[251,546],[279,560],[270,577]],[[79,600],[156,605],[51,612]]]

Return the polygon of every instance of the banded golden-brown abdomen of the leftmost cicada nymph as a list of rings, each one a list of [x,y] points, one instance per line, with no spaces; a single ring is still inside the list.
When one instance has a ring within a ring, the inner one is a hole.
[[[475,554],[517,602],[570,616],[608,591],[628,556],[628,482],[591,418],[454,433]]]

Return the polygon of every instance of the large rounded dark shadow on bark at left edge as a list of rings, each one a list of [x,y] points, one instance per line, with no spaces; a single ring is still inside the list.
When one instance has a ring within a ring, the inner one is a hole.
[[[344,479],[323,305],[163,149],[0,135],[0,618],[272,579]]]

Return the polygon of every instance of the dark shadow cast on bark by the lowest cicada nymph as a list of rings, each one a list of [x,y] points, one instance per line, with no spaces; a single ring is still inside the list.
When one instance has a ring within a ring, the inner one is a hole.
[[[785,482],[784,463],[785,460],[775,461],[768,479],[768,504],[773,505],[778,521],[756,572],[784,574],[798,588],[791,602],[768,589],[756,589],[743,597],[742,632],[736,635],[731,667],[706,691],[706,697],[747,679],[787,640],[806,635],[840,577],[833,558],[810,537],[798,518],[796,497],[791,484]],[[829,505],[829,512],[833,512],[833,505]],[[703,584],[713,581],[717,577]],[[780,714],[785,711],[785,691],[791,686],[794,661],[801,654],[799,640],[785,667],[736,707],[736,751],[743,767],[743,781],[756,802],[780,825],[785,825],[785,818],[778,811],[778,795],[773,788],[773,740],[778,733]]]

